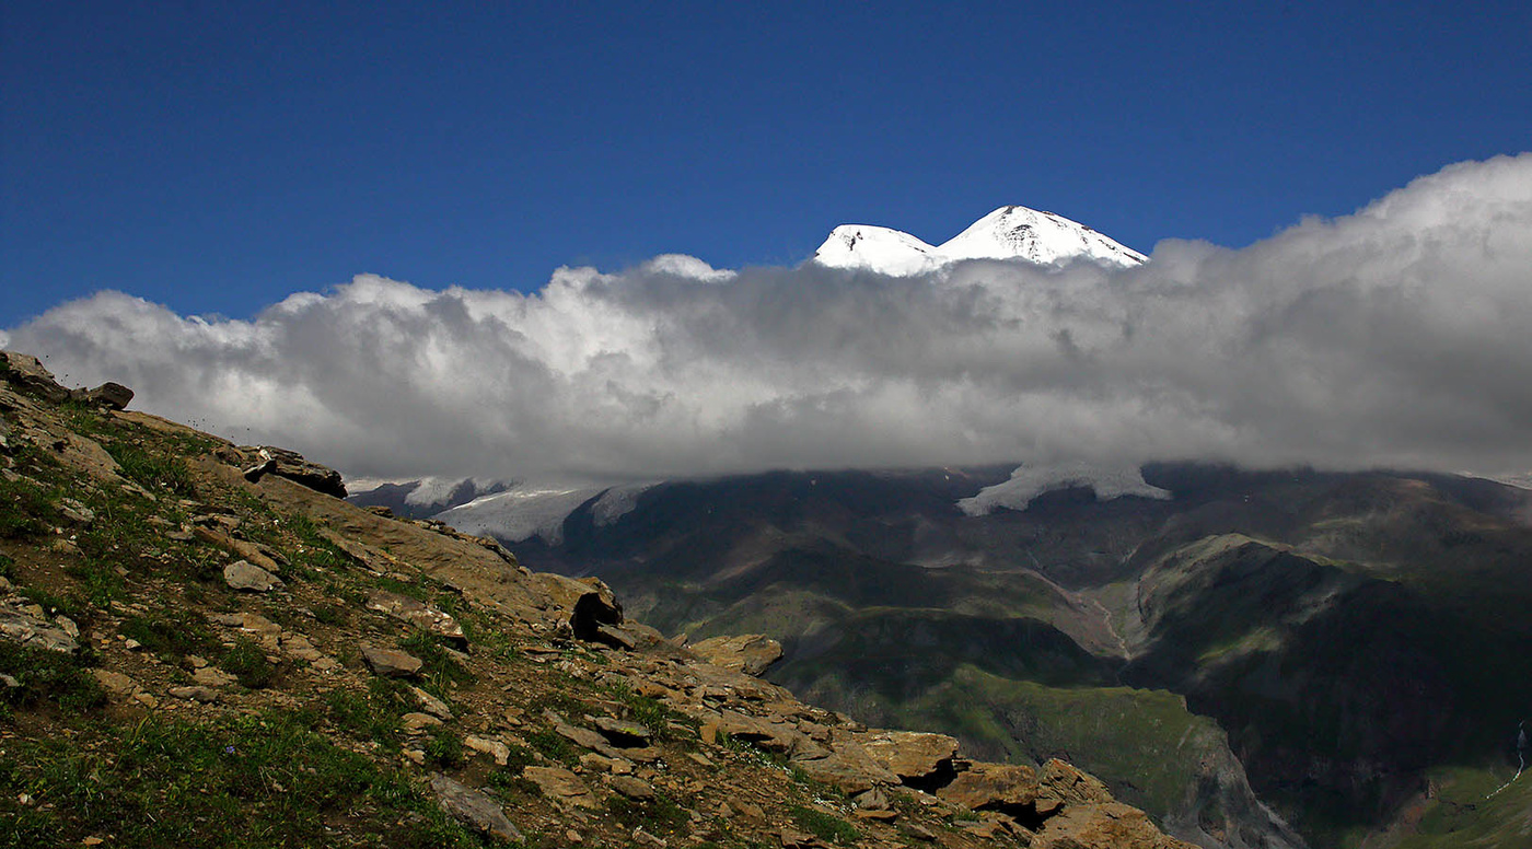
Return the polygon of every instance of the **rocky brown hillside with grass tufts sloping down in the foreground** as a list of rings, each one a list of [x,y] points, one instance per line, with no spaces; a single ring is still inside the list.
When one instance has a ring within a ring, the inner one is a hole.
[[[0,846],[1186,846],[130,398],[0,357]]]

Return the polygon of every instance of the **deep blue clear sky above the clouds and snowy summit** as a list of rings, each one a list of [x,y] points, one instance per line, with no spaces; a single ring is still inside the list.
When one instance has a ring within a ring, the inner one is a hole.
[[[0,326],[357,273],[795,264],[1002,204],[1244,245],[1532,147],[1532,5],[58,3],[0,12]]]

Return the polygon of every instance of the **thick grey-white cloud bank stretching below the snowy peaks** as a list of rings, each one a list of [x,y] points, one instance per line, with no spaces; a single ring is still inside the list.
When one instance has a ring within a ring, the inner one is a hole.
[[[1244,250],[921,277],[561,268],[533,294],[362,276],[251,322],[103,291],[12,328],[72,382],[354,475],[1227,460],[1532,469],[1532,155]]]

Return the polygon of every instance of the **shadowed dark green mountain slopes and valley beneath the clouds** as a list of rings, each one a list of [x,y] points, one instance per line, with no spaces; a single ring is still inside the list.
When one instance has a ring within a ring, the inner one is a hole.
[[[536,506],[502,536],[522,562],[601,575],[668,633],[766,633],[795,693],[985,757],[1068,754],[1207,847],[1393,846],[1422,814],[1445,831],[1409,846],[1514,834],[1532,789],[1483,795],[1532,711],[1532,492],[1163,464],[1141,470],[1154,497],[964,509],[1013,480],[771,472],[480,504]]]

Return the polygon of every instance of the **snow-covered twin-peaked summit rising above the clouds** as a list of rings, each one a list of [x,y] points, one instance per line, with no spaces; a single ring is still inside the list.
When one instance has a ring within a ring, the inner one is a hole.
[[[843,224],[810,262],[902,277],[964,259],[1023,259],[1039,265],[1083,259],[1128,268],[1149,257],[1068,218],[1013,205],[991,211],[941,245],[889,227]]]

